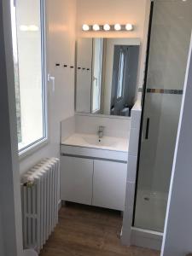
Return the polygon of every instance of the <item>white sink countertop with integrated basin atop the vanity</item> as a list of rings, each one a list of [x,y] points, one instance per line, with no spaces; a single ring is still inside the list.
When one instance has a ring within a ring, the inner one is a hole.
[[[129,142],[123,137],[103,136],[99,139],[94,134],[74,133],[72,136],[61,141],[62,145],[78,146],[84,148],[98,148],[105,150],[128,152]]]

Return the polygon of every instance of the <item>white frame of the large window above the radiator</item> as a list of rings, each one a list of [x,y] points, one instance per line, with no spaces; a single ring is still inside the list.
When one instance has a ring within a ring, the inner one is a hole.
[[[39,138],[38,140],[34,141],[26,145],[26,147],[19,149],[18,143],[18,155],[19,158],[22,159],[29,154],[34,153],[39,148],[44,147],[47,143],[49,143],[48,137],[48,106],[47,106],[47,99],[48,99],[48,91],[47,91],[47,66],[46,66],[46,52],[47,52],[47,45],[46,45],[46,19],[45,19],[45,1],[40,0],[40,20],[41,20],[41,54],[42,54],[42,105],[43,105],[43,137]]]

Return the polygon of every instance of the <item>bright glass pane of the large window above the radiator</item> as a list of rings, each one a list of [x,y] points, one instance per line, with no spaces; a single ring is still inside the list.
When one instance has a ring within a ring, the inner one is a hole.
[[[44,2],[10,0],[18,148],[46,139]]]

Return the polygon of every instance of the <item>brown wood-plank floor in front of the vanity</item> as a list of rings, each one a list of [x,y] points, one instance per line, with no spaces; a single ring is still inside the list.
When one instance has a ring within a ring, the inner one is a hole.
[[[59,213],[59,224],[40,256],[159,256],[119,241],[119,212],[67,203]]]

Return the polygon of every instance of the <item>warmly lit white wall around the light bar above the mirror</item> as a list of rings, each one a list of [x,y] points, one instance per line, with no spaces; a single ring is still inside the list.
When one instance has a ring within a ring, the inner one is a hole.
[[[147,44],[149,0],[78,0],[77,36],[88,38],[141,38],[140,75],[138,85],[143,85],[143,71]],[[133,32],[82,32],[83,24],[126,24],[135,26]]]

